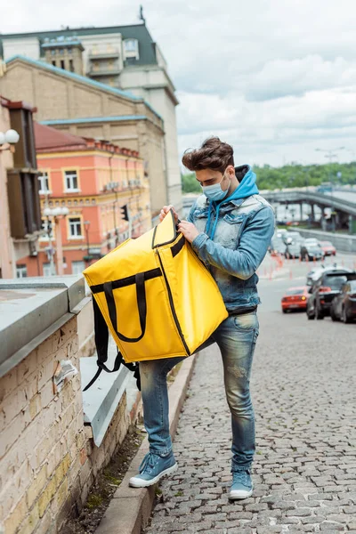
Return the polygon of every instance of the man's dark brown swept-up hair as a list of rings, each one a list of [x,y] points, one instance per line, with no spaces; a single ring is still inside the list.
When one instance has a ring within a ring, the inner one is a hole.
[[[234,166],[233,148],[227,142],[221,142],[218,137],[209,137],[200,149],[186,150],[182,164],[190,171],[213,169],[224,173],[227,166]]]

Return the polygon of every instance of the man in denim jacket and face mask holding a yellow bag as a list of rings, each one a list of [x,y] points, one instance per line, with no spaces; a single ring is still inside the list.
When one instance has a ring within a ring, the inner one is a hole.
[[[223,358],[226,398],[231,410],[231,499],[253,492],[251,465],[255,453],[255,415],[249,381],[258,336],[260,303],[255,274],[271,243],[274,214],[258,194],[249,166],[234,167],[231,145],[213,137],[198,150],[186,152],[184,166],[195,171],[202,187],[187,221],[175,221],[185,239],[213,275],[229,312],[204,347],[217,343]],[[160,219],[173,206],[164,206]],[[166,375],[183,358],[140,362],[143,417],[150,452],[133,487],[146,487],[177,469],[169,435]]]

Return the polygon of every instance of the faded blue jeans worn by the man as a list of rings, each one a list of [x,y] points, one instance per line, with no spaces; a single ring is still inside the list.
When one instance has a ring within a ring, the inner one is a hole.
[[[255,454],[255,414],[249,384],[258,330],[255,312],[232,315],[198,348],[200,351],[217,343],[222,353],[225,393],[231,411],[232,471],[249,469]],[[166,376],[182,360],[185,358],[140,362],[144,425],[150,451],[160,456],[172,450]]]

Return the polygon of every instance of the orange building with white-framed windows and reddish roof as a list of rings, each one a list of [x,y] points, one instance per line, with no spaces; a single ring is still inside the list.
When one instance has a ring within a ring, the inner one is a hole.
[[[129,237],[125,206],[133,238],[150,229],[149,181],[138,152],[39,124],[35,136],[44,235],[36,257],[18,262],[26,265],[27,276],[49,276],[54,267],[59,272],[56,231],[63,272],[75,274]],[[66,207],[69,214],[54,227],[45,207]]]

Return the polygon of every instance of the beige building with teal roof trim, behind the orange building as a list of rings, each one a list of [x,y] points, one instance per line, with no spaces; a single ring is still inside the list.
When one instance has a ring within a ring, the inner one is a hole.
[[[152,215],[166,204],[164,122],[142,97],[26,57],[8,61],[0,93],[34,102],[36,120],[43,125],[140,152],[150,180]]]

